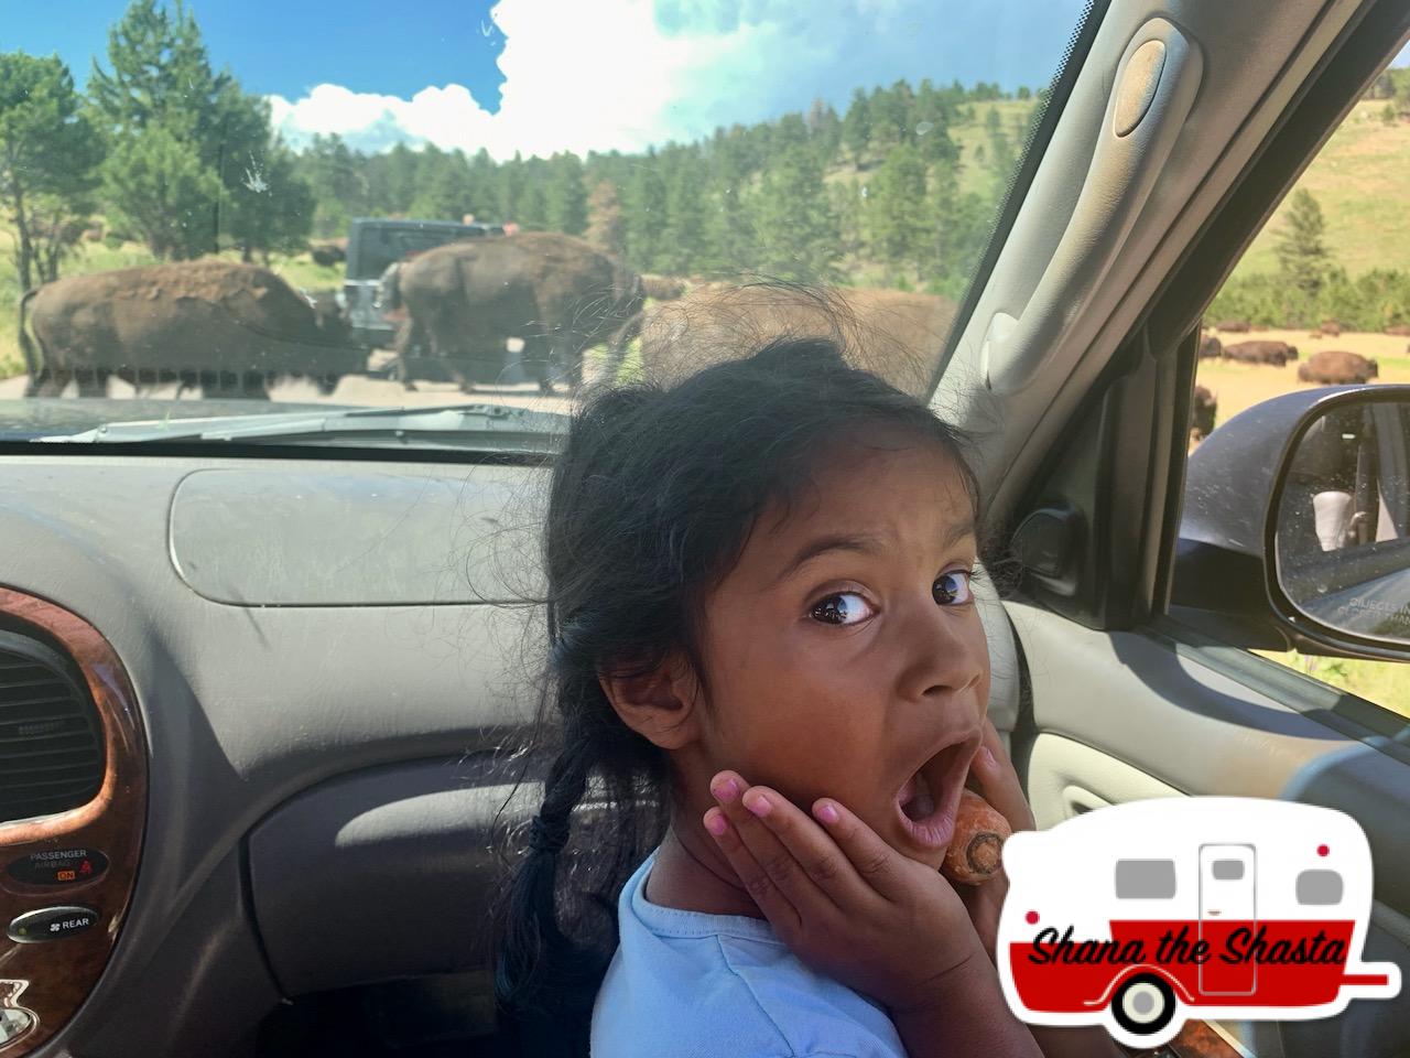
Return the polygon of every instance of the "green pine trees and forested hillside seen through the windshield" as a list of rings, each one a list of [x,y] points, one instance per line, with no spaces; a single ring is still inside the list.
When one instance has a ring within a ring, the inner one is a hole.
[[[0,209],[21,291],[56,278],[96,216],[110,245],[137,241],[155,260],[234,248],[268,261],[358,216],[475,214],[582,236],[643,272],[864,278],[957,296],[1041,107],[1007,123],[988,109],[971,152],[952,128],[974,123],[974,104],[1014,97],[997,83],[897,80],[857,87],[842,114],[816,100],[632,155],[364,154],[337,135],[293,151],[268,103],[212,69],[180,0],[133,0],[85,93],[56,56],[0,54]]]

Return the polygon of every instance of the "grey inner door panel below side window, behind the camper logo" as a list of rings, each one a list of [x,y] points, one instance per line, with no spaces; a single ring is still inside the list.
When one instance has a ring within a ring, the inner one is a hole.
[[[1404,745],[1294,707],[1145,632],[1086,629],[1021,598],[1005,601],[1026,659],[1029,701],[1014,739],[1039,828],[1103,804],[1224,794],[1345,811],[1372,848],[1368,959],[1410,965],[1410,782]],[[1272,663],[1266,663],[1269,667]],[[1356,1002],[1314,1021],[1231,1023],[1258,1058],[1410,1048],[1410,996]]]

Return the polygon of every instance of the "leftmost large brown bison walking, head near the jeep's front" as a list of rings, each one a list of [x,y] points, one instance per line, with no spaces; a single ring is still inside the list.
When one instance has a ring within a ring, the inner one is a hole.
[[[114,375],[140,391],[179,381],[261,399],[278,378],[307,377],[329,394],[365,368],[345,337],[340,315],[317,315],[274,272],[219,260],[69,276],[20,300],[27,396],[56,396],[70,379],[102,396]]]

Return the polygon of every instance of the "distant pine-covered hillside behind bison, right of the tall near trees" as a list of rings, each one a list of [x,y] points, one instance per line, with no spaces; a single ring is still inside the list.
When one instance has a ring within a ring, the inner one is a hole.
[[[1031,96],[1026,90],[1022,96]],[[1039,93],[1042,95],[1042,93]],[[295,172],[313,189],[313,233],[357,216],[515,220],[582,236],[643,272],[764,271],[887,281],[957,293],[973,272],[1021,142],[995,110],[987,151],[963,158],[950,135],[997,85],[905,80],[857,89],[845,114],[822,100],[776,121],[716,128],[705,141],[639,155],[556,154],[496,162],[434,145],[367,155],[314,137]],[[986,192],[960,192],[960,169],[984,166]]]

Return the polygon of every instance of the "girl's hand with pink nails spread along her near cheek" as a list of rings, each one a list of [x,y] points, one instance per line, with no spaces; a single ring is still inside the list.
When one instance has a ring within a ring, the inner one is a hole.
[[[933,1007],[946,975],[983,961],[955,887],[836,801],[814,803],[818,822],[736,772],[716,774],[711,793],[721,807],[705,813],[706,831],[778,937],[816,972],[895,1016]],[[752,811],[760,803],[763,815]]]

